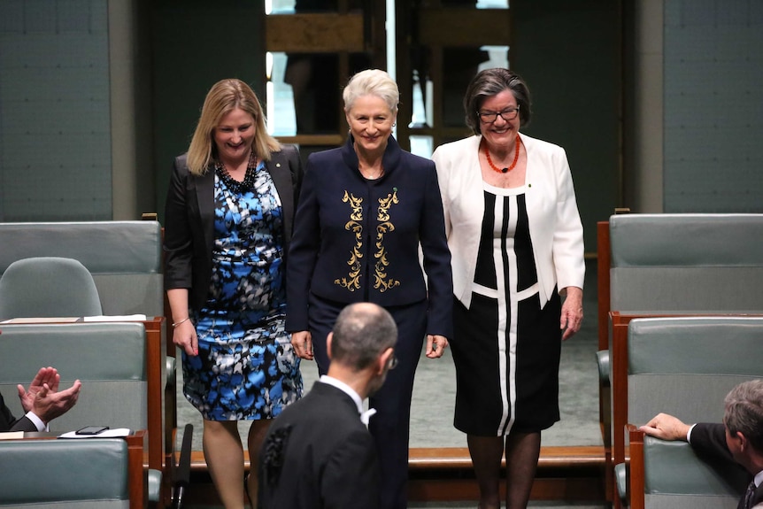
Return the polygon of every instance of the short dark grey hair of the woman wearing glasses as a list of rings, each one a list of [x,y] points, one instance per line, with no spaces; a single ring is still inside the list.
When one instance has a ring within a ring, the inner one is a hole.
[[[464,96],[464,112],[466,113],[466,126],[475,135],[482,133],[480,130],[480,116],[477,112],[482,108],[485,99],[497,96],[504,90],[511,90],[517,105],[520,107],[520,127],[527,126],[530,122],[530,89],[528,84],[520,78],[519,74],[503,67],[485,69],[477,73],[466,88]]]

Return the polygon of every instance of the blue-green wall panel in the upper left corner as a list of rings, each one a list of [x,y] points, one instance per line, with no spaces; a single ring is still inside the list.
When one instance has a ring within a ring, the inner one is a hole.
[[[106,0],[0,0],[0,220],[111,220]]]

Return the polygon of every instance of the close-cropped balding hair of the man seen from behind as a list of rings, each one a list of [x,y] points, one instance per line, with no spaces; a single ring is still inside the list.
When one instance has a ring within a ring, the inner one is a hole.
[[[331,362],[361,371],[397,343],[397,325],[383,307],[371,303],[346,306],[336,318]]]

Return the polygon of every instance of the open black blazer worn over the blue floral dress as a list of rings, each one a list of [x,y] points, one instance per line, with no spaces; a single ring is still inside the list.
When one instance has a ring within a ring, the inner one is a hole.
[[[294,209],[302,183],[297,148],[284,145],[265,167],[281,198],[284,262],[289,251]],[[198,310],[212,278],[214,243],[214,171],[190,174],[186,154],[175,158],[165,204],[165,289],[189,289],[189,306]]]

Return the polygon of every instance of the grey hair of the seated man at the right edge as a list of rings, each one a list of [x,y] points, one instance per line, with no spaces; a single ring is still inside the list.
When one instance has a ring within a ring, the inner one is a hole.
[[[752,448],[763,453],[763,380],[742,382],[726,396],[723,418],[728,433],[741,432]]]

